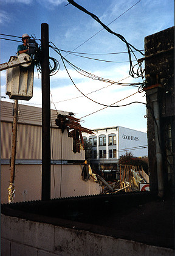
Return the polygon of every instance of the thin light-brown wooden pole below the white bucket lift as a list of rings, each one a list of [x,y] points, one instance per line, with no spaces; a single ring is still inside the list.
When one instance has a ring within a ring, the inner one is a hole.
[[[11,158],[11,171],[10,171],[10,185],[9,191],[9,203],[13,203],[15,196],[15,158],[16,158],[16,137],[17,137],[17,125],[18,125],[18,100],[15,100],[14,116],[13,116],[13,137],[12,137],[12,158]]]

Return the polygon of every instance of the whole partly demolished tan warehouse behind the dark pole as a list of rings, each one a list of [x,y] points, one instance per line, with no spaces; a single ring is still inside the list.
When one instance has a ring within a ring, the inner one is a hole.
[[[41,200],[41,112],[41,108],[18,105],[14,202]],[[55,124],[58,114],[64,117],[69,116],[69,112],[51,110],[50,114],[51,199],[99,194],[101,188],[92,178],[86,182],[82,180],[83,148],[74,153],[74,138],[68,136],[67,130],[62,133]],[[13,103],[1,101],[1,203],[8,202],[12,123]]]

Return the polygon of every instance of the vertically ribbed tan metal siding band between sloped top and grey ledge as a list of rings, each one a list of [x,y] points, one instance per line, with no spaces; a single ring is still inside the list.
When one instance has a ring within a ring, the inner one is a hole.
[[[41,159],[41,126],[18,124],[16,159]],[[51,159],[83,160],[84,150],[74,153],[73,139],[58,128],[51,132]],[[1,122],[1,159],[10,159],[12,152],[12,123]]]

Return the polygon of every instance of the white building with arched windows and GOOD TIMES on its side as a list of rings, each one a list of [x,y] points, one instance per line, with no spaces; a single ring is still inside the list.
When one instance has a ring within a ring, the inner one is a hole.
[[[122,126],[98,128],[92,130],[94,134],[83,133],[83,139],[92,144],[91,163],[117,164],[120,156],[126,150],[133,156],[148,155],[147,134]]]

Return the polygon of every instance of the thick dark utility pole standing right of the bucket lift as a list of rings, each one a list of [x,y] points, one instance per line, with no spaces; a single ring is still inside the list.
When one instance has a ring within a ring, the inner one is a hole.
[[[50,200],[50,75],[49,25],[41,24],[42,84],[42,200]]]

